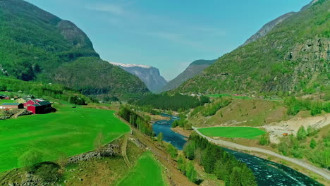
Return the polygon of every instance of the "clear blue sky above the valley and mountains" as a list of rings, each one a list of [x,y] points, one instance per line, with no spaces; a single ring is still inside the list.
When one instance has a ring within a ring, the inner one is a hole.
[[[159,68],[166,80],[236,49],[262,25],[311,0],[26,0],[71,20],[102,59]]]

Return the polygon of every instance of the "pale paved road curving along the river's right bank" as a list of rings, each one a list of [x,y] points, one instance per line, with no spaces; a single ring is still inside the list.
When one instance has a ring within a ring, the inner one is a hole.
[[[247,147],[247,146],[243,146],[243,145],[236,144],[236,143],[233,143],[233,142],[227,142],[227,141],[224,141],[224,140],[214,140],[211,137],[207,137],[205,135],[202,135],[202,133],[199,130],[197,130],[198,128],[193,127],[193,129],[199,135],[201,135],[202,137],[205,137],[207,140],[209,140],[209,142],[213,142],[214,144],[218,144],[218,145],[224,146],[224,147],[231,147],[231,148],[235,148],[235,149],[246,150],[246,151],[257,151],[257,152],[261,152],[261,153],[264,153],[264,154],[269,154],[271,156],[276,156],[280,159],[284,159],[286,161],[290,161],[291,163],[295,163],[298,166],[302,166],[303,168],[306,168],[306,169],[308,169],[308,170],[310,170],[314,173],[317,173],[318,175],[321,175],[322,177],[326,178],[327,180],[330,180],[330,171],[327,171],[326,169],[318,168],[316,166],[312,166],[311,164],[305,163],[305,162],[300,161],[298,159],[293,159],[293,158],[289,158],[287,156],[282,156],[281,154],[277,154],[274,151],[269,151],[269,150],[261,149],[261,148],[257,148],[257,147]]]

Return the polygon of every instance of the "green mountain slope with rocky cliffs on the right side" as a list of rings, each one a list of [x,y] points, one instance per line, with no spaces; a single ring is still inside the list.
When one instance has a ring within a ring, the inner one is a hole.
[[[329,7],[329,0],[312,1],[173,92],[309,94],[329,88]]]

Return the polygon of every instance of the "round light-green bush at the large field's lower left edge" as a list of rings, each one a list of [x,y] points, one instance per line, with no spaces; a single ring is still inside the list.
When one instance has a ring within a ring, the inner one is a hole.
[[[25,167],[27,172],[35,171],[35,165],[42,161],[42,152],[37,149],[25,151],[18,159],[18,165]]]

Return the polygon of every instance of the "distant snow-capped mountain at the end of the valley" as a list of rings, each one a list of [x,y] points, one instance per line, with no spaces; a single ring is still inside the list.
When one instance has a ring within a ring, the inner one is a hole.
[[[111,64],[123,68],[123,70],[126,70],[128,73],[138,76],[142,82],[145,82],[145,85],[147,85],[147,88],[151,92],[158,92],[167,83],[164,77],[160,75],[158,68],[112,62]]]

